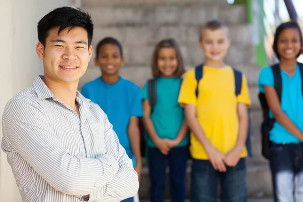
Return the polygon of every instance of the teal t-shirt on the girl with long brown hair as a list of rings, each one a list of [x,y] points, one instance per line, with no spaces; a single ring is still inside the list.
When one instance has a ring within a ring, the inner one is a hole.
[[[178,95],[181,84],[181,78],[163,78],[156,79],[157,103],[150,115],[151,121],[157,135],[160,138],[174,139],[184,120],[183,108],[178,103]],[[148,99],[147,83],[141,90],[142,99]],[[147,145],[156,147],[153,141],[146,135]],[[189,135],[180,142],[179,146],[185,146],[189,143]]]

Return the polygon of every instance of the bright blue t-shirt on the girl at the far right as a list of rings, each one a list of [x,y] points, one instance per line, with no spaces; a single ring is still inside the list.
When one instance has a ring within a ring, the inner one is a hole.
[[[303,96],[300,70],[297,66],[295,74],[290,77],[281,70],[282,77],[282,95],[281,108],[289,119],[303,131]],[[265,67],[261,70],[259,76],[259,89],[264,92],[264,85],[275,87],[274,76],[271,67]],[[270,117],[273,117],[270,112]],[[270,131],[270,140],[279,143],[296,143],[301,142],[298,138],[289,133],[279,122],[275,122],[273,129]]]

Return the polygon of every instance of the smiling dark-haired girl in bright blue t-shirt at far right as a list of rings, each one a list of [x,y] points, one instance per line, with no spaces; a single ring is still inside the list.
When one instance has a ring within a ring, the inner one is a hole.
[[[303,201],[303,96],[296,60],[301,54],[302,34],[296,22],[277,28],[273,48],[280,61],[281,103],[271,67],[262,69],[259,88],[265,93],[270,117],[276,120],[269,132],[274,197],[280,202]]]

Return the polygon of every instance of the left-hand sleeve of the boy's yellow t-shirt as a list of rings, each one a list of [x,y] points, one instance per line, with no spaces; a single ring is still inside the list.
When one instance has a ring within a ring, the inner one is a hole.
[[[197,104],[197,97],[195,94],[197,82],[194,78],[193,72],[193,70],[190,70],[184,75],[178,97],[178,102],[181,106],[183,106],[184,104]]]

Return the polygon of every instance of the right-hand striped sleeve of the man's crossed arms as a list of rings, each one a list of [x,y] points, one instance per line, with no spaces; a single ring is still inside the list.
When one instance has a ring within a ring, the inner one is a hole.
[[[103,189],[90,194],[88,201],[121,201],[137,193],[138,175],[104,112],[103,116],[105,117],[106,150],[118,160],[119,170],[114,179]]]

